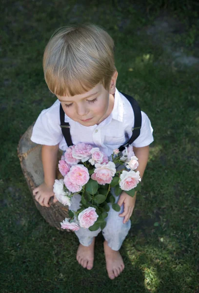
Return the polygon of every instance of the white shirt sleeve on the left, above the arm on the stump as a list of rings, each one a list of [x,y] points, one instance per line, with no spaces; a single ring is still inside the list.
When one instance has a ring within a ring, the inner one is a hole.
[[[40,113],[33,126],[31,141],[40,145],[56,146],[62,139],[59,111],[56,114],[49,109]]]

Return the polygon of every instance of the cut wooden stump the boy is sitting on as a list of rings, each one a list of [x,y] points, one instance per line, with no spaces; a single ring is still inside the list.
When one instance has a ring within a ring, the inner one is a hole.
[[[27,181],[28,187],[32,194],[33,200],[40,214],[44,217],[50,226],[63,230],[60,228],[60,222],[68,218],[68,206],[63,206],[60,202],[53,203],[53,197],[50,198],[50,207],[42,207],[35,200],[33,189],[38,187],[43,182],[43,167],[41,162],[41,145],[33,143],[30,138],[32,135],[33,125],[31,125],[20,138],[18,146],[18,157],[20,165]],[[59,150],[58,161],[60,160],[62,151]],[[56,170],[56,178],[62,178],[59,169]],[[63,230],[71,231],[71,230]]]

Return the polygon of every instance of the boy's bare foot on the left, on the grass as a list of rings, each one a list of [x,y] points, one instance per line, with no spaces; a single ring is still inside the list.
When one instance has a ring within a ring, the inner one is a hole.
[[[83,246],[82,244],[80,244],[78,247],[76,259],[79,262],[79,264],[83,268],[86,268],[87,270],[91,270],[93,268],[94,247],[95,247],[95,237],[91,245]]]

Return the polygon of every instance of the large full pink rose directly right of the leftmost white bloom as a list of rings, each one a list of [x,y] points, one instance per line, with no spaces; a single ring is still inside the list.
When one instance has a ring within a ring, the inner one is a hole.
[[[71,183],[83,186],[89,180],[88,169],[83,165],[72,166],[68,173],[68,178]]]

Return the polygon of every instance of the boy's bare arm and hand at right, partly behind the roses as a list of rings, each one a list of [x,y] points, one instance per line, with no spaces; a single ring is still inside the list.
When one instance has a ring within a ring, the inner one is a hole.
[[[133,151],[135,153],[135,156],[138,158],[139,166],[135,171],[139,171],[139,176],[142,178],[144,174],[144,170],[147,165],[148,157],[149,157],[149,146],[143,146],[143,147],[133,147]],[[125,191],[122,191],[122,193],[119,196],[118,204],[121,207],[122,204],[124,204],[124,211],[123,213],[119,214],[119,217],[124,217],[123,223],[125,224],[129,218],[131,217],[135,203],[136,203],[136,195],[137,191],[135,192],[134,197],[131,197],[128,195]]]

